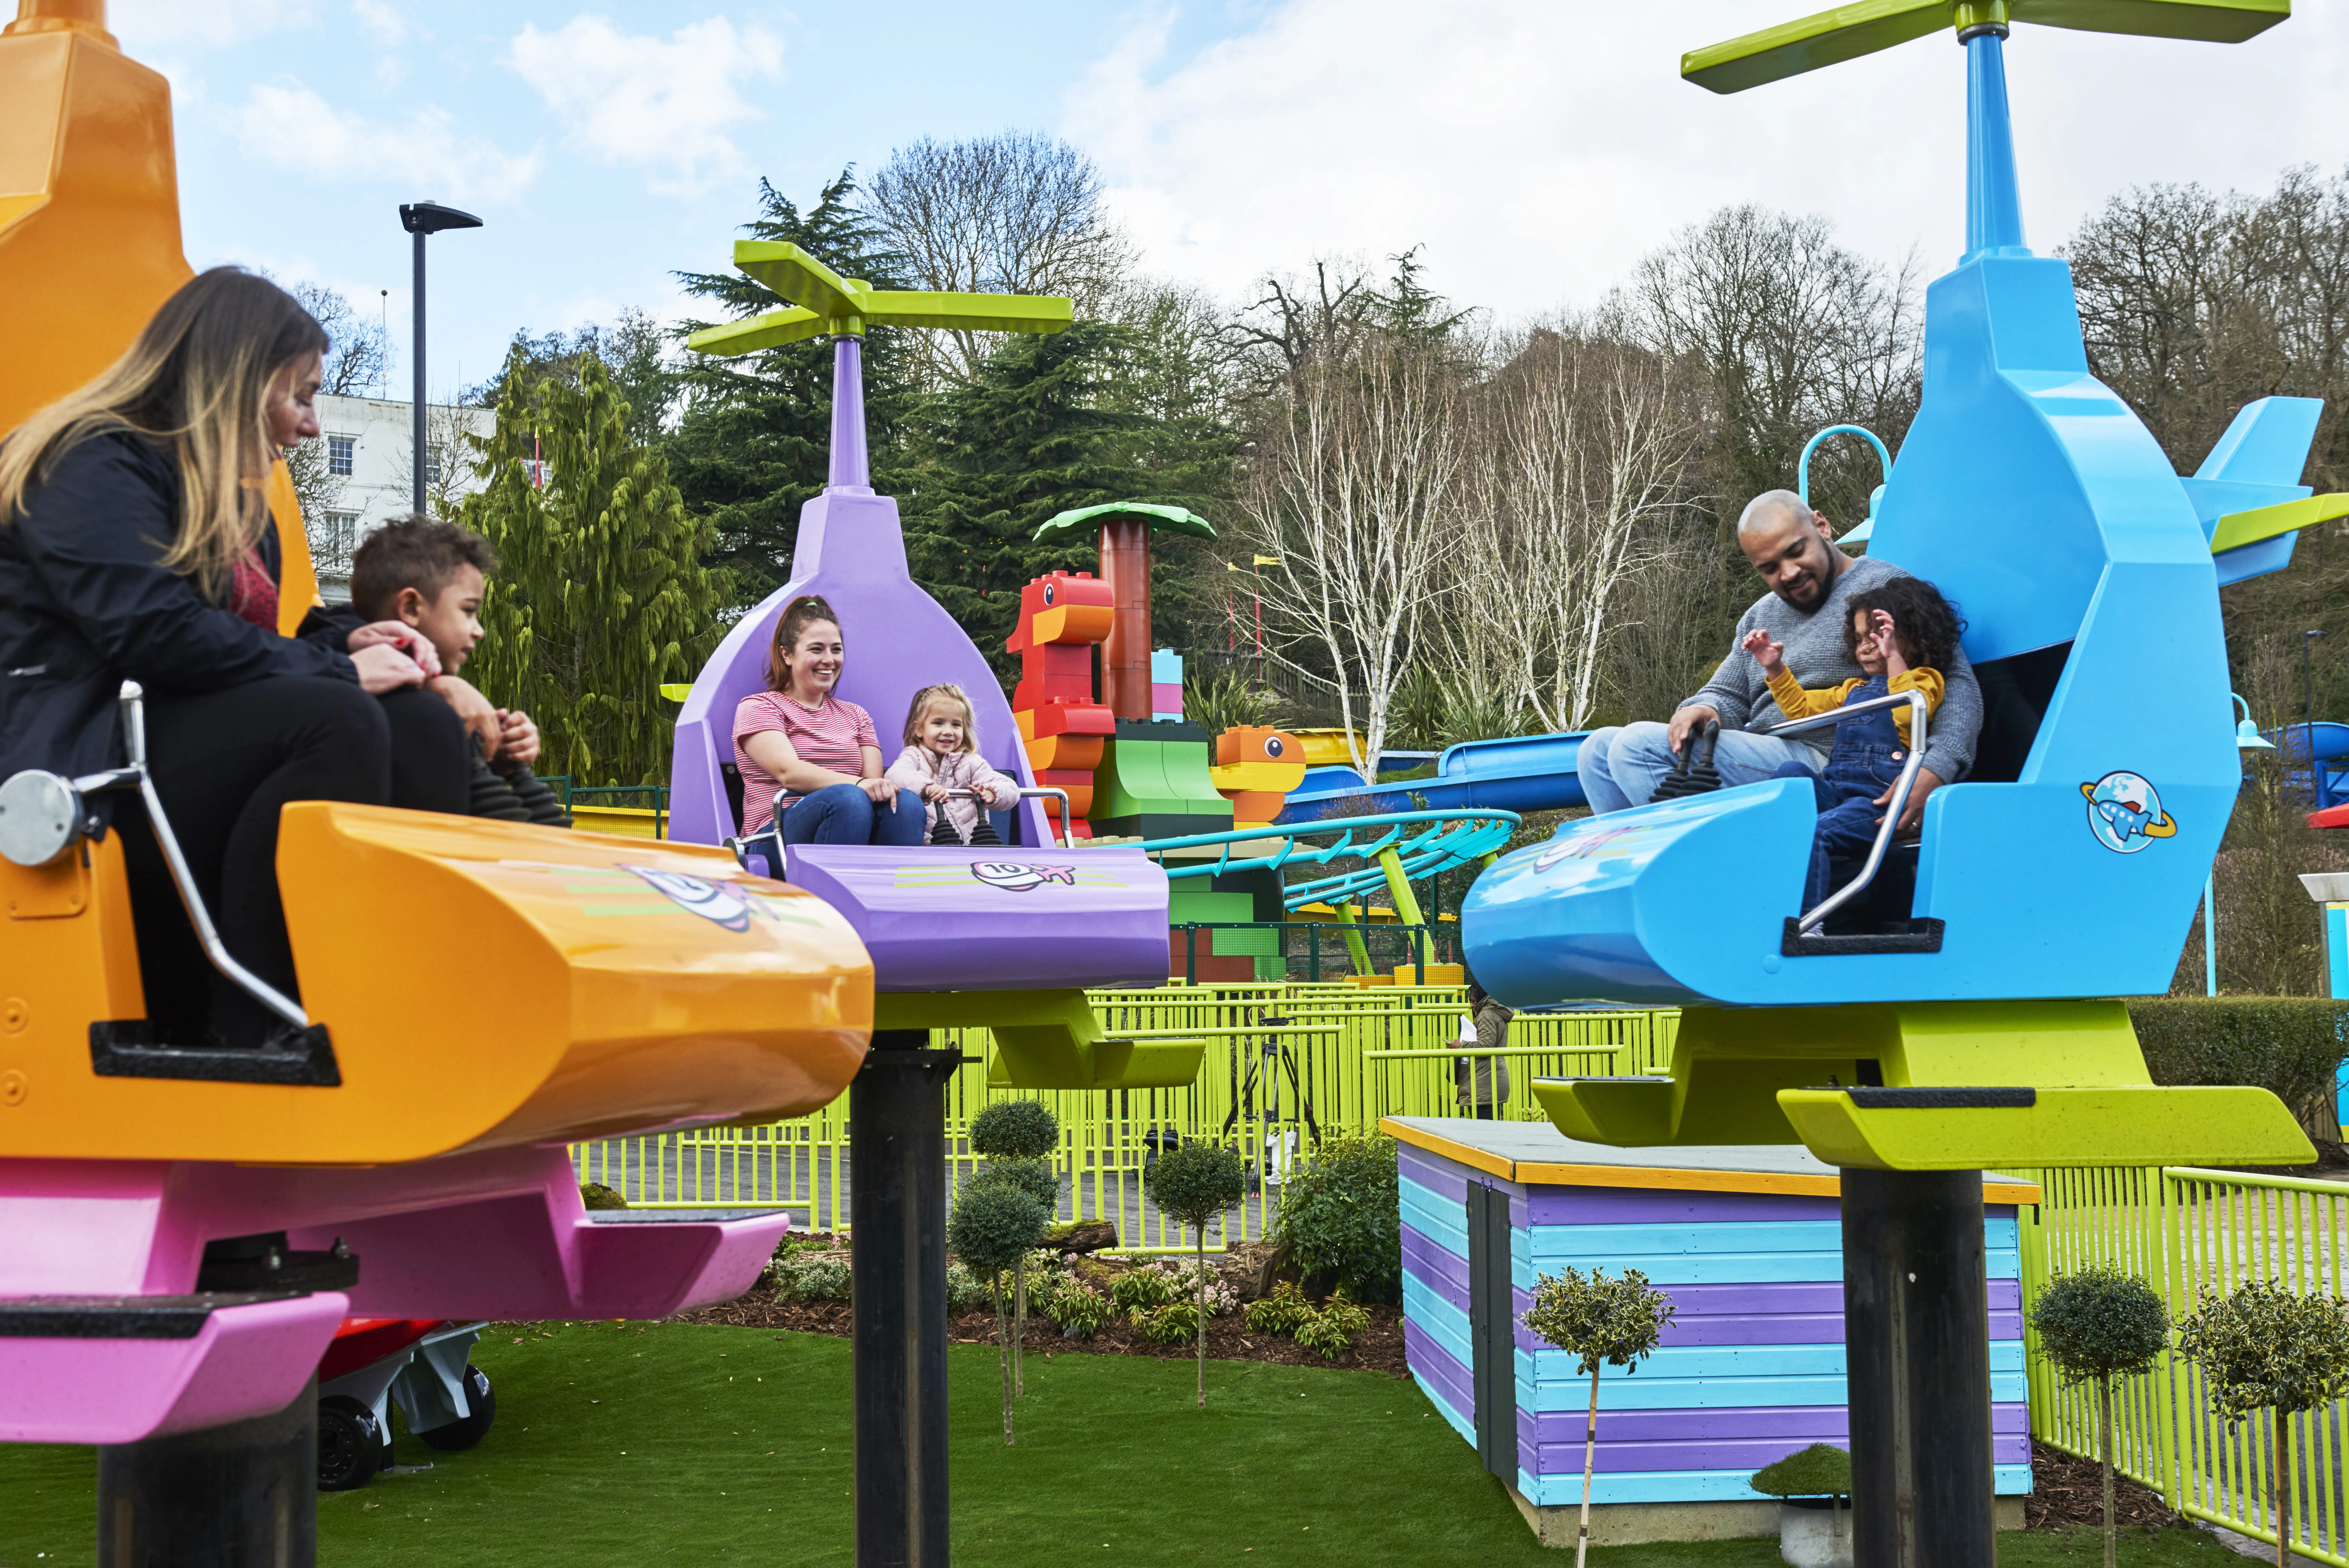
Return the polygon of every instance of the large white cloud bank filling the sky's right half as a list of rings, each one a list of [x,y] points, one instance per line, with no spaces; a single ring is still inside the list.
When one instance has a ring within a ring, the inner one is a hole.
[[[1961,52],[1919,40],[1736,96],[1680,80],[1682,49],[1773,16],[1487,0],[1428,28],[1405,0],[1285,0],[1174,66],[1158,16],[1069,92],[1064,134],[1102,162],[1151,266],[1229,294],[1318,254],[1423,242],[1431,287],[1463,303],[1590,303],[1743,200],[1947,270]],[[2236,47],[2015,28],[2006,59],[2039,249],[2131,183],[2267,188],[2293,162],[2349,162],[2349,7],[2302,7]]]

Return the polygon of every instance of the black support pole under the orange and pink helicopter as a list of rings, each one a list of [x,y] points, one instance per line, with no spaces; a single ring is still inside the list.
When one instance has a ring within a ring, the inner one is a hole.
[[[315,1568],[317,1378],[284,1410],[99,1448],[106,1568]]]

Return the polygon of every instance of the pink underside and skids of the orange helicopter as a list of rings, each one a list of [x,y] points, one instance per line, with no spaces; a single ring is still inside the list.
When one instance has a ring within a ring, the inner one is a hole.
[[[0,1161],[0,1298],[186,1295],[204,1241],[341,1239],[359,1284],[214,1307],[193,1338],[0,1338],[0,1441],[132,1443],[280,1410],[345,1316],[658,1319],[731,1300],[782,1241],[745,1220],[590,1220],[559,1147],[413,1166]]]

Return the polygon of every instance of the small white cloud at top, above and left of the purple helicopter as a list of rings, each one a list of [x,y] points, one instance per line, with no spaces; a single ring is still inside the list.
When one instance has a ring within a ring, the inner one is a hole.
[[[573,16],[552,33],[526,24],[507,54],[571,139],[615,165],[658,169],[655,193],[691,195],[747,165],[731,132],[763,113],[742,96],[782,80],[782,38],[723,16],[667,40]]]

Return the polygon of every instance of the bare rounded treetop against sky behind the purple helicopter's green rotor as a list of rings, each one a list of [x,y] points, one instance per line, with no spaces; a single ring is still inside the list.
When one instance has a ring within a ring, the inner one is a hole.
[[[1102,172],[1057,136],[923,136],[890,153],[862,205],[923,289],[1066,294],[1104,315],[1132,266],[1102,205]],[[914,334],[933,374],[972,381],[1001,334]]]

